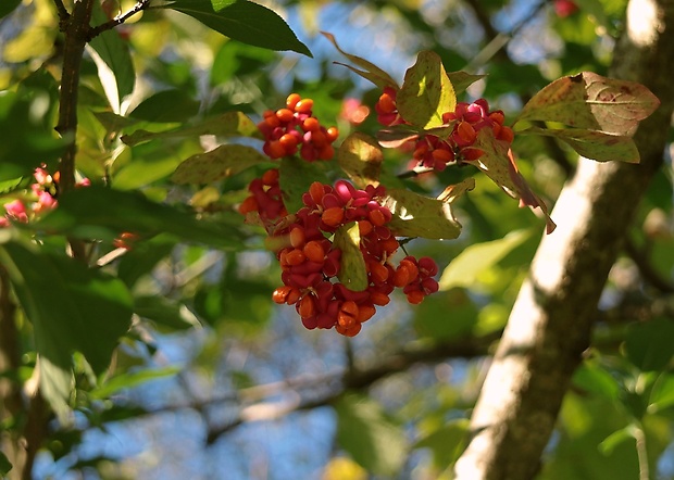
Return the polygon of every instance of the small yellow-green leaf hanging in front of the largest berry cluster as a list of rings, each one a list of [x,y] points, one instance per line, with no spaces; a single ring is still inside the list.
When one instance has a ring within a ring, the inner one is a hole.
[[[367,269],[361,252],[361,236],[357,223],[342,225],[335,232],[333,243],[341,250],[337,278],[346,288],[362,292],[367,288]]]

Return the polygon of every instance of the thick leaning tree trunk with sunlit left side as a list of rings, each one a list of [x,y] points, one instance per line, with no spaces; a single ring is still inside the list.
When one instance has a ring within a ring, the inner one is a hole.
[[[641,197],[663,162],[674,103],[674,3],[632,0],[612,77],[650,88],[661,106],[635,135],[638,165],[581,159],[562,190],[471,418],[459,480],[536,476],[569,388],[589,346],[597,304]]]

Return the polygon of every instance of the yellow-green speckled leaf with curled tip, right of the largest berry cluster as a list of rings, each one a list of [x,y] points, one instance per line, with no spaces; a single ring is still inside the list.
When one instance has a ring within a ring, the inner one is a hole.
[[[457,191],[470,190],[475,180],[469,178],[454,186]],[[405,189],[388,189],[384,201],[394,215],[389,228],[397,237],[452,239],[461,233],[461,224],[451,211],[451,201],[432,199]]]

